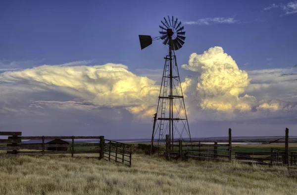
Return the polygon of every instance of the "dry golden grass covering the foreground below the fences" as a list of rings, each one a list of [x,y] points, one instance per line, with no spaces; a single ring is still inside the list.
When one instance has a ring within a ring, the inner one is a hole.
[[[20,156],[0,158],[0,195],[297,195],[297,168]]]

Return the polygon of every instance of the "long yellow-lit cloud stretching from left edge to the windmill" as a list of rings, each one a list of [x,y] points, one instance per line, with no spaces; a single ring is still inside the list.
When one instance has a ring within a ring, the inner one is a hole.
[[[159,93],[159,86],[155,85],[154,80],[137,76],[121,64],[42,65],[4,72],[0,74],[0,82],[54,89],[90,100],[99,106],[123,106],[139,116],[148,114],[148,108],[155,105]],[[31,106],[36,107],[34,104]]]

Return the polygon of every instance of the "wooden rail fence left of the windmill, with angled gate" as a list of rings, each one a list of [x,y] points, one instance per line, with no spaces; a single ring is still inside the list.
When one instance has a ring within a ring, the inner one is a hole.
[[[106,159],[108,157],[108,160],[114,160],[115,162],[131,166],[131,145],[104,139],[104,136],[21,136],[22,132],[3,131],[0,131],[0,135],[8,136],[7,139],[0,139],[0,144],[6,144],[0,146],[0,151],[6,151],[6,154],[1,155],[5,157],[19,155],[71,154],[71,157],[77,158],[86,157]],[[42,140],[42,142],[22,144],[22,140],[26,139],[39,139]],[[66,143],[49,144],[45,142],[45,140],[48,139],[63,139],[68,140],[69,143],[65,141]],[[78,141],[78,139],[88,139],[88,142]],[[47,148],[66,149],[59,151],[48,150]],[[108,153],[107,157],[104,156],[104,154],[106,153]],[[75,154],[80,154],[80,156],[75,156]],[[81,156],[82,154],[93,154],[93,156]],[[115,159],[112,158],[113,156],[115,157]]]

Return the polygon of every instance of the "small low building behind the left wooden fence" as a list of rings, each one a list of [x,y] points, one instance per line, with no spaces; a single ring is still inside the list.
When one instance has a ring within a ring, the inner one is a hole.
[[[23,146],[39,146],[42,144],[42,139],[30,139],[29,141],[24,141],[22,142]],[[64,141],[62,139],[45,139],[45,144],[47,145],[52,145],[52,146],[47,146],[45,150],[53,150],[53,151],[67,151],[69,142]],[[58,146],[57,144],[67,144],[67,146]]]

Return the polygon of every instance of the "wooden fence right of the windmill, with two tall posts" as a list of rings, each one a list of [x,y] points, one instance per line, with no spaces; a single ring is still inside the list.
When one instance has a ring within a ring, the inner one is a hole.
[[[232,147],[231,129],[229,129],[228,144],[202,144],[196,142],[182,142],[170,144],[169,135],[166,135],[167,160],[171,158],[194,158],[196,160],[223,160],[243,163],[258,163],[268,165],[297,165],[297,150],[289,150],[289,129],[286,128],[285,149],[256,147]]]

